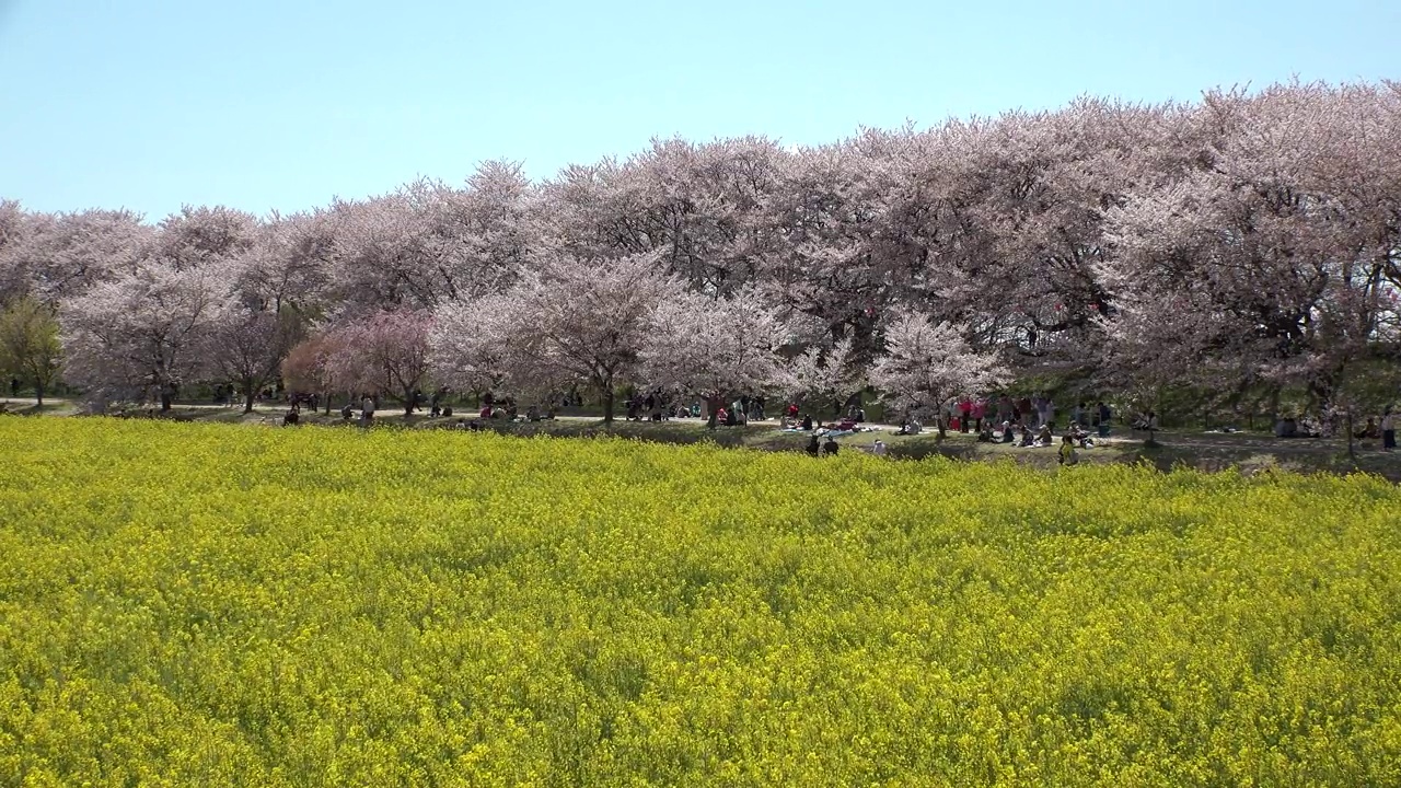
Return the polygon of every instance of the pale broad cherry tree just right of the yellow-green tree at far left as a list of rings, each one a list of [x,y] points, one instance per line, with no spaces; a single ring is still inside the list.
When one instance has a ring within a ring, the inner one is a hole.
[[[157,261],[92,285],[60,307],[64,379],[91,404],[154,393],[161,411],[199,380],[205,337],[220,301],[210,268],[175,269]]]

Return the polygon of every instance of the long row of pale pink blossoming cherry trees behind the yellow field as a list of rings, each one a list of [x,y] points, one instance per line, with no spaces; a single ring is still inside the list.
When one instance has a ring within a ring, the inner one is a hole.
[[[922,409],[1013,380],[1337,405],[1398,359],[1398,250],[1401,87],[1283,84],[658,140],[539,184],[493,161],[294,216],[6,202],[0,300],[56,317],[98,404],[228,381],[251,405],[284,376],[609,409],[628,383]]]

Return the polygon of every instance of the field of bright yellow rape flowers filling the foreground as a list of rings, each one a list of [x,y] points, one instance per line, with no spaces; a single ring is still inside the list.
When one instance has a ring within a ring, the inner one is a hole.
[[[0,418],[4,785],[1397,785],[1370,477]]]

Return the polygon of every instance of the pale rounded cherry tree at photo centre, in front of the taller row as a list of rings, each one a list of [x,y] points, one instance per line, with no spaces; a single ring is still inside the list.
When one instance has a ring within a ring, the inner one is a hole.
[[[653,387],[705,397],[713,428],[726,397],[789,384],[779,351],[793,335],[790,322],[752,289],[723,299],[686,293],[661,301],[651,314],[640,377]]]

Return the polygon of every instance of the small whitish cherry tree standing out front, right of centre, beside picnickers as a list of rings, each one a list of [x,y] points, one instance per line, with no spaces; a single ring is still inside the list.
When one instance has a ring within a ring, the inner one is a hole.
[[[895,308],[885,328],[885,352],[870,369],[870,381],[895,409],[934,416],[944,436],[944,405],[960,394],[991,391],[1009,381],[1005,362],[975,351],[948,322],[934,322]]]

